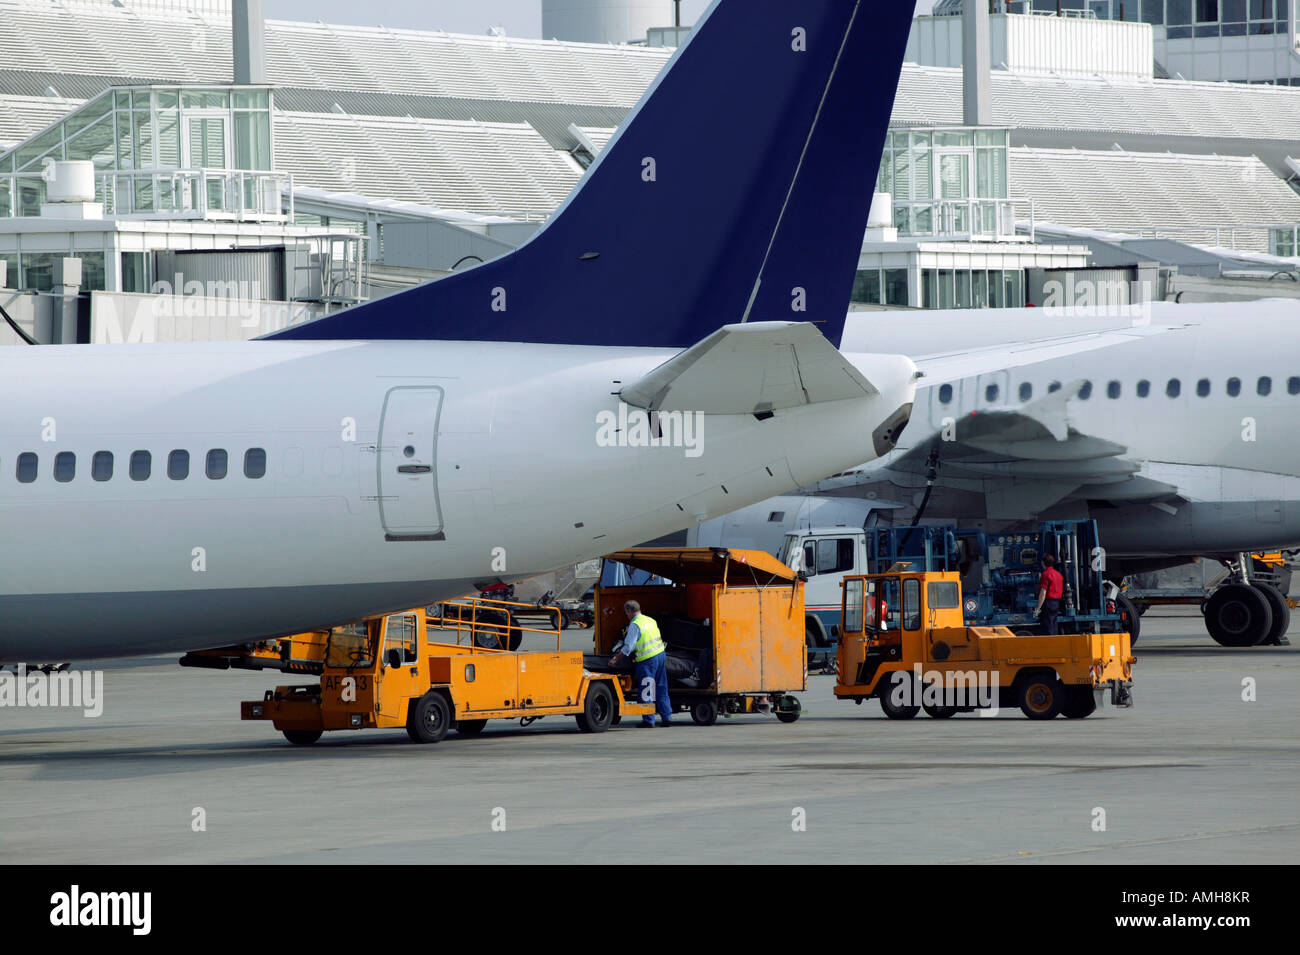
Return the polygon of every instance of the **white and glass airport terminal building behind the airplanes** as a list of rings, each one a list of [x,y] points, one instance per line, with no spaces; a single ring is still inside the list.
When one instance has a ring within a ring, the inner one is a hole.
[[[686,32],[607,6],[534,40],[0,0],[0,295],[38,340],[247,338],[515,248]],[[914,23],[857,307],[1300,296],[1286,0],[996,9],[987,68],[961,0]],[[200,317],[139,325],[157,292]]]

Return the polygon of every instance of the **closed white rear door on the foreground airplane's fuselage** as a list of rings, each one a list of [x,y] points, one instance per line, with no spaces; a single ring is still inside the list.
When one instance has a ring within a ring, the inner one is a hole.
[[[443,541],[438,502],[442,388],[390,388],[376,453],[380,522],[386,541]]]

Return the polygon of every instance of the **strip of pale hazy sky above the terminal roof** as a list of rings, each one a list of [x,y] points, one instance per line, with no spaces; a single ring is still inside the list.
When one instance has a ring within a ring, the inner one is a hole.
[[[933,0],[920,0],[928,10]],[[681,19],[694,23],[708,8],[708,0],[684,0]],[[265,0],[268,19],[324,19],[348,26],[446,30],[458,34],[484,34],[503,26],[511,36],[542,35],[542,0]],[[668,26],[664,23],[664,26]]]

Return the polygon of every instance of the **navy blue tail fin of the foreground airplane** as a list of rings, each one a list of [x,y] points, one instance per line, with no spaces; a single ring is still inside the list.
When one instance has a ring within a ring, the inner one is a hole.
[[[913,4],[718,0],[529,242],[266,338],[838,344]]]

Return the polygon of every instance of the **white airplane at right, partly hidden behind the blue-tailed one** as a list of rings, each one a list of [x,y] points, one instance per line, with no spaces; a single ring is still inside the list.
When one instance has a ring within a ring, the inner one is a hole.
[[[933,477],[926,522],[1014,530],[1091,517],[1113,579],[1197,556],[1230,563],[1236,573],[1206,604],[1210,635],[1226,646],[1279,642],[1284,600],[1247,586],[1240,569],[1243,554],[1300,544],[1300,307],[1156,303],[1140,321],[1158,335],[1124,312],[850,313],[846,350],[871,342],[933,378],[920,382],[890,453],[805,492],[902,502],[894,521],[907,522]],[[1130,327],[1126,343],[1010,364],[1045,334]],[[1008,368],[946,379],[945,361],[989,347],[1005,351]],[[750,525],[760,511],[750,509]]]

